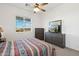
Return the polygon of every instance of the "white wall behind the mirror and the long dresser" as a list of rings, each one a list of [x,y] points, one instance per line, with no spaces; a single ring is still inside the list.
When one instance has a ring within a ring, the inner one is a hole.
[[[43,27],[48,31],[48,22],[62,20],[62,33],[66,34],[66,47],[79,51],[79,4],[62,4],[44,15]]]

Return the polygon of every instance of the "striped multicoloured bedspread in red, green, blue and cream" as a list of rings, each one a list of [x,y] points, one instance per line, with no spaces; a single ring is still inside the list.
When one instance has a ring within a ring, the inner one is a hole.
[[[2,56],[51,56],[52,46],[36,38],[17,39],[0,44]]]

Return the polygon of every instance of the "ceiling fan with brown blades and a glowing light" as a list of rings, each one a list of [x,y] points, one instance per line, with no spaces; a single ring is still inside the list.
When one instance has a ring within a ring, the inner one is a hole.
[[[34,13],[37,13],[39,11],[43,11],[46,12],[46,10],[44,9],[44,6],[47,5],[48,3],[34,3],[33,4],[33,8],[34,8]],[[28,6],[29,4],[25,4],[25,6]]]

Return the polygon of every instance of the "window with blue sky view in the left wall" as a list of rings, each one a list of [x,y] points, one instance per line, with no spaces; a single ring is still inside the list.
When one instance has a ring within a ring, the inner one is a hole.
[[[16,32],[31,31],[31,19],[16,16]]]

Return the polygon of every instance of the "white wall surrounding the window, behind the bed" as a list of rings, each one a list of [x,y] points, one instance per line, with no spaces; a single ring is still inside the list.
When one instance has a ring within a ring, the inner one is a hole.
[[[32,31],[16,33],[16,16],[23,16],[32,19]],[[13,40],[20,37],[34,37],[34,28],[41,27],[40,15],[34,15],[33,12],[16,8],[8,4],[0,4],[0,25],[4,29],[4,36],[7,40]]]

